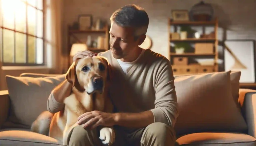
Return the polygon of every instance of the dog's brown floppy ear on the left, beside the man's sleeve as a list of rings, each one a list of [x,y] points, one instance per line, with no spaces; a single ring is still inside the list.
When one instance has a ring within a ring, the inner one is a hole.
[[[73,62],[72,65],[69,67],[67,73],[66,73],[66,80],[72,84],[72,87],[76,87],[79,91],[84,91],[85,89],[81,87],[81,85],[78,82],[77,74],[76,74],[76,65],[77,61]]]

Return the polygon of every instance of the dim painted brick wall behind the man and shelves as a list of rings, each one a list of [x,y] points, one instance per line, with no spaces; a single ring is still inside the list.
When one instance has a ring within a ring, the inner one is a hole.
[[[111,14],[126,4],[137,4],[149,15],[147,35],[153,40],[152,50],[169,59],[169,42],[167,20],[172,9],[187,9],[200,2],[199,0],[64,0],[63,39],[67,40],[67,25],[77,21],[79,14],[92,14],[93,21],[97,18],[109,20]],[[205,0],[214,7],[215,16],[220,27],[226,28],[227,39],[256,39],[256,0]],[[219,28],[219,39],[223,38]],[[66,42],[63,41],[64,50]],[[221,49],[221,47],[219,48]],[[221,55],[220,55],[221,56]]]

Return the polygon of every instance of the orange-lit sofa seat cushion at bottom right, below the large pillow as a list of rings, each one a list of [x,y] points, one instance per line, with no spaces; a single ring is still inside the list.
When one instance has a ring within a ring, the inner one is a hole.
[[[255,146],[256,139],[243,133],[203,132],[181,136],[176,140],[180,145],[239,145]]]

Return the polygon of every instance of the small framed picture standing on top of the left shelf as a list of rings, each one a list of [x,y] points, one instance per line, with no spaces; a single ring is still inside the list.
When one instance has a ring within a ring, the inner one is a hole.
[[[79,15],[78,16],[79,30],[88,30],[92,27],[92,15]]]

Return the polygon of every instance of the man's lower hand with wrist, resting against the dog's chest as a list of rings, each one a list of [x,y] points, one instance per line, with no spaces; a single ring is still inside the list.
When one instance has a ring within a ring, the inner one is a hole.
[[[77,120],[77,124],[82,125],[85,129],[93,129],[97,126],[113,126],[115,125],[115,114],[91,111],[82,114]]]

